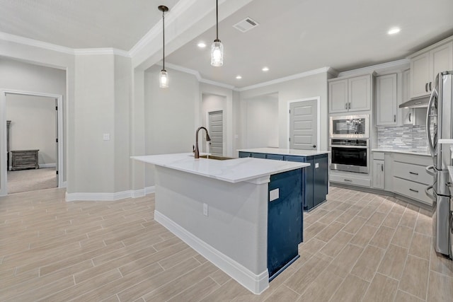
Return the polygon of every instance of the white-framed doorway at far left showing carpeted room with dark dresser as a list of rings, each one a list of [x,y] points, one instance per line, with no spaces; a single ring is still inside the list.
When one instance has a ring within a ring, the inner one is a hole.
[[[59,177],[63,175],[63,144],[59,143],[63,135],[62,99],[62,95],[48,93],[1,91],[0,108],[3,115],[0,116],[0,138],[2,144],[6,144],[8,139],[6,120],[11,122],[9,123],[9,154],[3,149],[0,151],[0,196],[11,192],[63,187],[63,180]],[[40,117],[42,120],[39,120]],[[41,141],[38,144],[37,140],[42,137],[47,141]],[[40,151],[36,151],[38,149]],[[13,153],[15,163],[13,163]],[[38,160],[35,157],[38,157]],[[39,162],[40,168],[26,169],[30,168],[28,165],[33,165],[33,161]]]

